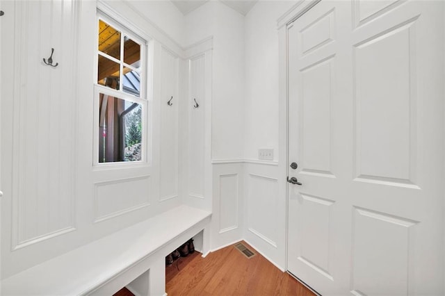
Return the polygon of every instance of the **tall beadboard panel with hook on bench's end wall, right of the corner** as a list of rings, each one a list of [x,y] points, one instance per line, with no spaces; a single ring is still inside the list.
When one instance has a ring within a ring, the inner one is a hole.
[[[211,116],[213,38],[186,49],[186,88],[181,110],[183,161],[180,169],[184,204],[211,210]]]

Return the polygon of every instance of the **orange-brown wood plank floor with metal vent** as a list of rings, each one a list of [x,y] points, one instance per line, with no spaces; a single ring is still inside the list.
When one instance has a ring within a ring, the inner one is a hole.
[[[247,243],[256,255],[246,258],[231,245],[206,258],[195,252],[165,268],[165,291],[177,295],[298,295],[309,289],[282,272]],[[128,290],[127,290],[128,291]],[[122,289],[116,296],[127,296]]]

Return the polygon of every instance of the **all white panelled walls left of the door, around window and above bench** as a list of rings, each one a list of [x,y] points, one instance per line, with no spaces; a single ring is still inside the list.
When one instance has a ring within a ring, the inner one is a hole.
[[[211,249],[245,239],[284,269],[278,87],[257,76],[277,72],[275,19],[293,4],[277,3],[184,17],[168,1],[2,1],[1,277],[181,203],[212,210]],[[92,166],[97,7],[148,41],[151,157],[122,170]],[[51,47],[56,68],[42,65]],[[274,162],[254,161],[263,147]]]

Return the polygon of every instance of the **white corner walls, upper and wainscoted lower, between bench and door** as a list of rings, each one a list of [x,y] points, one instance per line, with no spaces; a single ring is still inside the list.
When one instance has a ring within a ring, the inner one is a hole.
[[[245,238],[282,270],[286,183],[278,160],[286,157],[279,156],[277,19],[295,3],[259,1],[243,17],[209,1],[186,15],[187,44],[213,36],[211,247]],[[259,148],[273,148],[274,161],[258,161]]]

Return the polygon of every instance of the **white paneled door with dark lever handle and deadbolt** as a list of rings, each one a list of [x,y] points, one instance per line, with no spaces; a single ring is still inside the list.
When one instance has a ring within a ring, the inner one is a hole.
[[[321,1],[288,25],[288,270],[322,295],[444,295],[443,6]]]

